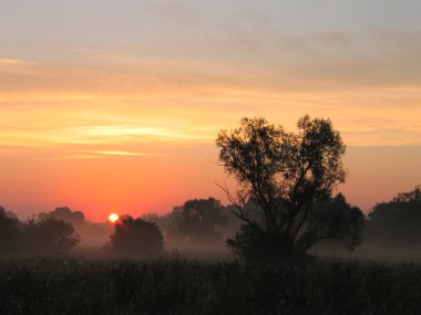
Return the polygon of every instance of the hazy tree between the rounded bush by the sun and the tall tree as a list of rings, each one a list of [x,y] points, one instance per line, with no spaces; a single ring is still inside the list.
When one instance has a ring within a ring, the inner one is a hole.
[[[170,239],[186,240],[189,244],[220,242],[222,234],[215,228],[227,223],[226,209],[214,198],[193,199],[175,207],[170,222]]]

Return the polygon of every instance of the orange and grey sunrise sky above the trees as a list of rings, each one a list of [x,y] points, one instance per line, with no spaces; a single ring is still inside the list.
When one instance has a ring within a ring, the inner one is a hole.
[[[0,0],[0,204],[88,219],[226,201],[215,138],[330,118],[347,199],[421,183],[421,2]]]

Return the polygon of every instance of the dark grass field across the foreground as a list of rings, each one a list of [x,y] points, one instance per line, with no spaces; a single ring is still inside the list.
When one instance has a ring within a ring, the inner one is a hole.
[[[0,260],[0,314],[420,314],[421,265]]]

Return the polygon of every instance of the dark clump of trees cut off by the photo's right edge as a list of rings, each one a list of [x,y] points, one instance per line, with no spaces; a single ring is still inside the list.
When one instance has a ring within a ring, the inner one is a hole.
[[[369,213],[366,238],[383,248],[421,248],[421,186],[377,203]]]

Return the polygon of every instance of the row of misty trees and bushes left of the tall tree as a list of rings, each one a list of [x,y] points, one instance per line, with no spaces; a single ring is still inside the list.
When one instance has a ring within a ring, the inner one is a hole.
[[[1,207],[0,254],[66,252],[81,242],[94,243],[109,253],[122,254],[160,252],[165,245],[222,248],[227,235],[239,225],[229,209],[214,198],[194,199],[175,207],[165,216],[122,216],[111,227],[89,222],[83,212],[72,211],[68,207],[41,212],[27,221],[20,221],[16,213]]]

